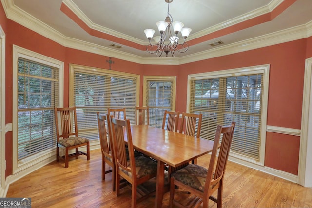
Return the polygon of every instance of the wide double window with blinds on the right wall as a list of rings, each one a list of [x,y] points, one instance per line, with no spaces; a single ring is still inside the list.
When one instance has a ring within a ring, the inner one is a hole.
[[[251,67],[189,76],[189,110],[203,114],[201,137],[213,140],[218,124],[229,125],[235,121],[231,152],[260,161],[264,142],[261,138],[266,128],[263,115],[264,100],[267,100],[266,69]]]

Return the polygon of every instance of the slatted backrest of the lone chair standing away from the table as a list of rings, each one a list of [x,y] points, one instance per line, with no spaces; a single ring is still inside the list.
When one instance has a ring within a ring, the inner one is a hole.
[[[76,107],[54,108],[57,141],[78,136]],[[60,125],[60,126],[59,126]],[[60,131],[59,131],[60,130]]]

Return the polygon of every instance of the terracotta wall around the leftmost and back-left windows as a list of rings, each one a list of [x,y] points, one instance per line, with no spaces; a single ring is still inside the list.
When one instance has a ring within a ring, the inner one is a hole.
[[[2,14],[2,13],[1,13]],[[9,25],[6,33],[6,123],[12,123],[12,46],[18,45],[39,54],[58,59],[64,62],[64,106],[69,104],[69,64],[85,65],[97,68],[108,69],[106,60],[109,57],[92,54],[76,49],[66,48],[60,44],[45,38],[14,21],[6,19]],[[141,92],[143,82],[143,69],[141,64],[112,58],[112,70],[141,75]],[[140,95],[142,100],[142,95]],[[7,132],[5,139],[5,159],[7,169],[5,175],[12,174],[12,132]]]

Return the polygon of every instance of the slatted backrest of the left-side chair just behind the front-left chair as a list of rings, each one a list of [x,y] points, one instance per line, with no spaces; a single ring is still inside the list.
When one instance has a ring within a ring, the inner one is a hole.
[[[101,145],[101,150],[104,155],[111,156],[110,154],[110,144],[111,142],[107,139],[107,132],[106,132],[106,125],[105,121],[107,122],[107,117],[104,114],[100,114],[97,112],[98,118],[98,135],[99,135],[99,142]],[[108,125],[108,124],[107,124]]]

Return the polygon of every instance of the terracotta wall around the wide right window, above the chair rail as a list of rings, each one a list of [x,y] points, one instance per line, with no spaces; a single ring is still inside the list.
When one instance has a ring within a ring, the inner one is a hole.
[[[306,39],[300,39],[183,64],[179,69],[178,88],[186,92],[188,74],[270,64],[267,125],[300,129],[305,48]],[[178,100],[177,110],[185,111],[186,94],[180,95]]]

